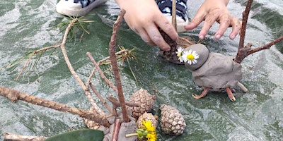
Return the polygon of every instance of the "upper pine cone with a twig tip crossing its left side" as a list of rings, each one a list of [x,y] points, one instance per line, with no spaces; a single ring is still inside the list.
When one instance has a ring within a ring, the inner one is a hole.
[[[127,106],[127,110],[131,111],[132,116],[137,119],[141,116],[141,114],[151,111],[154,106],[154,100],[155,97],[153,95],[141,88],[137,92],[134,92],[134,94],[132,94],[129,98],[129,102],[139,104],[139,107]]]

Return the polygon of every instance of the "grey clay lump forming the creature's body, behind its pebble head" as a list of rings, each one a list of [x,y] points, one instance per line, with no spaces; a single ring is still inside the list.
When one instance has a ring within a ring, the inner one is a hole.
[[[200,68],[192,71],[195,83],[219,91],[226,87],[234,88],[242,79],[241,64],[233,61],[233,56],[209,53],[207,61]]]

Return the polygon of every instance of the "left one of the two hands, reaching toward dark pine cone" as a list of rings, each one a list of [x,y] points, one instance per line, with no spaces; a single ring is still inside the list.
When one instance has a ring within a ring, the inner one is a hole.
[[[159,10],[154,0],[116,0],[120,8],[125,9],[127,25],[147,44],[157,45],[164,51],[171,47],[164,41],[158,27],[171,39],[178,39],[178,33]]]

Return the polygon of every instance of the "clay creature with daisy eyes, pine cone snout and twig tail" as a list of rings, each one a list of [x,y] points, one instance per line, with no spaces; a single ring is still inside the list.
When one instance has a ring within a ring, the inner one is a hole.
[[[236,101],[236,98],[233,96],[233,88],[238,86],[243,92],[248,91],[247,88],[239,82],[239,80],[242,79],[241,61],[243,61],[246,56],[263,49],[269,49],[273,44],[283,40],[282,36],[269,44],[255,49],[251,49],[252,44],[250,43],[243,47],[248,14],[252,3],[253,0],[249,0],[246,10],[243,12],[241,37],[236,57],[225,56],[214,52],[209,53],[208,49],[203,44],[195,44],[190,37],[179,37],[177,42],[175,42],[168,37],[165,32],[160,31],[163,38],[171,46],[170,51],[161,50],[161,56],[173,63],[185,64],[185,66],[192,71],[192,78],[195,83],[204,88],[202,94],[192,95],[195,99],[204,97],[209,90],[216,92],[225,90],[231,101]],[[173,25],[176,24],[175,20],[172,21]]]

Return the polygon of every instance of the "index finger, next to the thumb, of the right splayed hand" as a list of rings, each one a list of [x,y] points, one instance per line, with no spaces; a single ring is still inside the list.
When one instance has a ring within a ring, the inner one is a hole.
[[[209,31],[210,27],[212,27],[217,17],[218,15],[216,13],[209,13],[209,15],[207,15],[204,20],[204,24],[202,25],[202,30],[200,30],[200,39],[204,39],[205,35],[207,35],[207,32]]]

